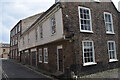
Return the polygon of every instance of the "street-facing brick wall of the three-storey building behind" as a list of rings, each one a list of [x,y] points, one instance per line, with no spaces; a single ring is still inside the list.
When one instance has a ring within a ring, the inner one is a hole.
[[[18,54],[18,40],[21,35],[21,21],[19,21],[10,31],[10,58],[19,60],[20,56]],[[13,34],[14,33],[14,34]]]

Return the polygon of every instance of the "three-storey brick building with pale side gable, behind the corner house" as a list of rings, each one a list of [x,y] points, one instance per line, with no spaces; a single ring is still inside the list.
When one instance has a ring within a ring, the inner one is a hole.
[[[30,16],[28,18],[20,20],[10,31],[10,58],[20,61],[20,55],[18,50],[18,40],[20,35],[30,27],[42,13]]]

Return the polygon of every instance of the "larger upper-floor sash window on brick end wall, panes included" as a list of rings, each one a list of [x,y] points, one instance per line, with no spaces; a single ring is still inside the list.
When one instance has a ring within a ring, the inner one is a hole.
[[[92,32],[91,12],[89,8],[78,7],[81,32]]]

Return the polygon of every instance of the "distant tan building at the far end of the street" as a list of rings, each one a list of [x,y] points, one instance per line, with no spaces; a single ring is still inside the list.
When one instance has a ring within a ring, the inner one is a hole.
[[[0,43],[0,58],[9,58],[9,48],[9,44]]]

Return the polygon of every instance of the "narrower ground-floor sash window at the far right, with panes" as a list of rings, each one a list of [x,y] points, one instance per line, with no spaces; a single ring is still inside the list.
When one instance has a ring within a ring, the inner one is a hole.
[[[115,41],[108,41],[109,62],[117,61]]]

